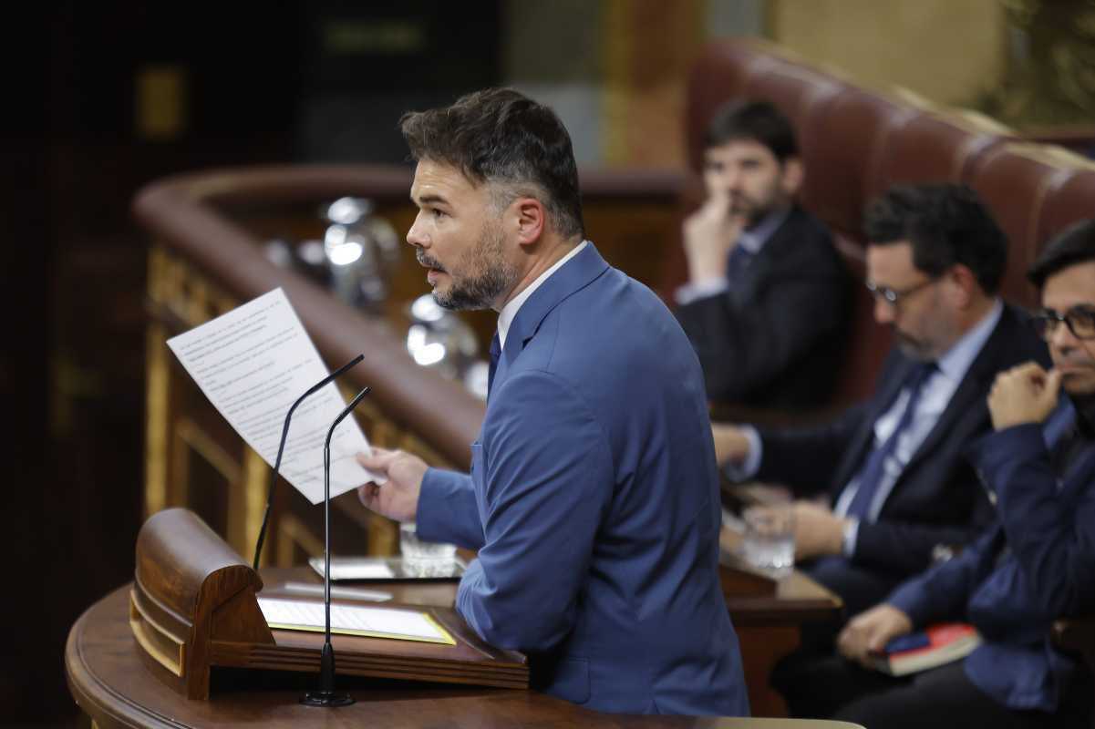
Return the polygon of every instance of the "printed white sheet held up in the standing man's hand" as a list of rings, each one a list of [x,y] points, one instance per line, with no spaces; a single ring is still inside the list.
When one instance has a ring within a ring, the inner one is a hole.
[[[168,339],[209,402],[270,467],[292,403],[330,372],[289,299],[274,289],[227,314]],[[346,407],[332,382],[292,414],[281,475],[312,504],[323,500],[323,441]],[[331,497],[373,479],[354,460],[370,453],[353,417],[331,438]]]

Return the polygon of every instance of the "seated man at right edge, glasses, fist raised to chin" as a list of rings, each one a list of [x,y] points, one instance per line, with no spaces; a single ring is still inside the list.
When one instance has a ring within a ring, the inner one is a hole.
[[[1058,617],[1095,611],[1095,221],[1051,242],[1030,280],[1053,369],[1001,373],[988,398],[994,431],[968,450],[999,525],[853,618],[843,657],[788,676],[796,714],[835,711],[867,727],[1091,726],[1091,676],[1049,630]],[[955,620],[983,639],[965,659],[901,679],[850,662]]]

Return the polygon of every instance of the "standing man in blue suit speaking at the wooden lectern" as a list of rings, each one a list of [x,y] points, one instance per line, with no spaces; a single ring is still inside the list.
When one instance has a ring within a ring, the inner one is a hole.
[[[367,507],[477,549],[457,609],[530,657],[533,684],[603,711],[745,715],[717,576],[703,374],[644,286],[584,241],[570,140],[511,90],[401,121],[417,160],[407,242],[452,309],[498,312],[471,475],[410,454]]]

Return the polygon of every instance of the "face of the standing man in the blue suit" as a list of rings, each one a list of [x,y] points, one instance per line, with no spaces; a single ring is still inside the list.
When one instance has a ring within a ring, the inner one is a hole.
[[[434,299],[446,309],[498,308],[517,284],[491,185],[473,185],[457,167],[422,160],[411,199],[418,215],[407,231]]]

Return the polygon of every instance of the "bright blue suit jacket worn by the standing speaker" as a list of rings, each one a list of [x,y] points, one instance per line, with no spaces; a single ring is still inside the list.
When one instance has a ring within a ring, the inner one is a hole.
[[[472,472],[431,468],[423,539],[479,549],[457,609],[603,711],[747,715],[717,574],[703,374],[680,326],[590,244],[506,338]]]

